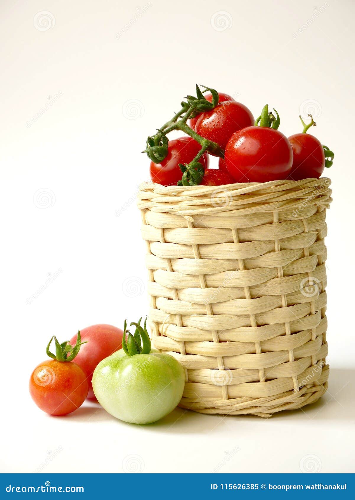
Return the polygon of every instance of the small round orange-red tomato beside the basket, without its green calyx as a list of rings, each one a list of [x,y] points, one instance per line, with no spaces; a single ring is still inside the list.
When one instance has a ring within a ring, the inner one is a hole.
[[[66,415],[85,400],[86,373],[73,361],[47,359],[34,368],[29,393],[38,408],[50,415]]]

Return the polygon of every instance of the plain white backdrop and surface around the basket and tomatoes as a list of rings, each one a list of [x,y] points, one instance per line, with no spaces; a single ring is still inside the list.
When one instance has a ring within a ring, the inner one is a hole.
[[[354,6],[1,0],[2,471],[354,470]],[[176,409],[139,427],[86,403],[50,417],[27,389],[50,336],[147,311],[140,151],[196,82],[255,116],[269,102],[286,135],[313,111],[312,133],[336,152],[329,393],[268,420]]]

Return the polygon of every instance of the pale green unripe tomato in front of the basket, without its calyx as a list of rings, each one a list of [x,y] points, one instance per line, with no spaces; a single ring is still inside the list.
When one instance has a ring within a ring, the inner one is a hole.
[[[184,385],[181,364],[155,349],[132,356],[120,349],[99,362],[92,376],[101,406],[131,423],[155,422],[170,413],[178,405]]]

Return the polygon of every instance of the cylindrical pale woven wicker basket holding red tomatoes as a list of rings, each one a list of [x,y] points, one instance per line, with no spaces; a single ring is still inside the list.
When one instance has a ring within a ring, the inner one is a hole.
[[[180,406],[267,417],[324,394],[329,186],[140,187],[148,320],[185,367]]]

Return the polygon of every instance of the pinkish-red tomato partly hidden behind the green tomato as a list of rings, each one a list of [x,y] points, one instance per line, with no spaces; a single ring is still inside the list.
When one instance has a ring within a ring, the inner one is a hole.
[[[94,324],[80,330],[81,341],[87,342],[80,346],[79,352],[75,356],[75,363],[86,373],[89,392],[89,399],[96,399],[92,390],[92,373],[98,363],[113,352],[122,347],[123,330],[110,324]],[[75,345],[76,335],[69,343]]]

